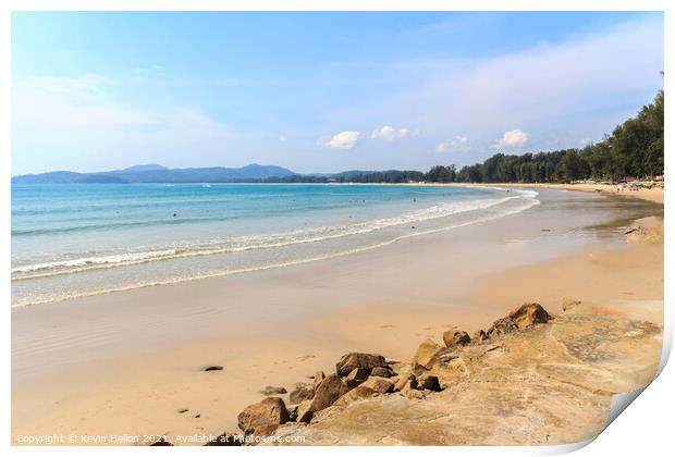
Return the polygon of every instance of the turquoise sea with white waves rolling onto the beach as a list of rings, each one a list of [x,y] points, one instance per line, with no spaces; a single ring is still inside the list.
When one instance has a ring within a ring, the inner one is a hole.
[[[12,305],[281,268],[524,211],[532,190],[415,185],[12,186]]]

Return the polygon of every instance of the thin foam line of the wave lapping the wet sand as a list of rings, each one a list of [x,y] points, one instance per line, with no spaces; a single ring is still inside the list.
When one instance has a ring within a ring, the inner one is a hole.
[[[528,190],[527,193],[530,193],[530,192]],[[472,225],[472,224],[476,224],[476,223],[488,222],[488,221],[492,221],[492,220],[504,218],[506,215],[516,214],[516,213],[523,212],[525,210],[528,210],[528,209],[539,205],[540,201],[538,199],[533,198],[537,195],[538,195],[538,193],[536,193],[536,192],[533,192],[533,195],[532,194],[521,195],[523,198],[520,198],[520,199],[523,200],[523,205],[514,207],[514,208],[511,208],[511,209],[507,209],[507,210],[504,210],[504,211],[495,212],[495,213],[490,214],[490,215],[486,215],[486,217],[482,217],[482,218],[477,218],[477,219],[474,219],[474,220],[470,220],[470,221],[466,221],[466,222],[450,224],[450,225],[446,225],[446,226],[443,226],[443,227],[437,227],[437,228],[430,228],[430,230],[426,230],[426,231],[418,231],[418,232],[413,232],[413,233],[406,233],[406,234],[400,235],[397,237],[394,237],[392,239],[388,239],[388,240],[384,240],[384,242],[381,242],[381,243],[377,243],[377,244],[365,246],[365,247],[354,248],[354,249],[346,249],[346,250],[343,250],[343,251],[340,251],[340,252],[332,252],[332,254],[328,254],[328,255],[308,257],[308,258],[304,258],[304,259],[295,259],[295,260],[283,261],[283,262],[267,263],[267,264],[258,265],[258,267],[233,269],[233,270],[228,270],[228,271],[213,271],[213,272],[198,273],[198,274],[193,274],[193,275],[189,275],[189,276],[179,276],[179,277],[172,277],[172,279],[167,279],[167,280],[145,281],[145,282],[144,281],[139,281],[139,282],[136,282],[136,283],[133,283],[133,284],[125,284],[125,285],[119,285],[119,286],[99,287],[99,288],[94,288],[94,289],[88,289],[88,291],[72,291],[72,292],[66,292],[66,293],[45,295],[45,296],[41,296],[41,297],[25,296],[25,297],[21,297],[19,299],[14,299],[14,297],[13,297],[12,307],[16,308],[16,307],[23,307],[23,306],[27,306],[27,305],[40,305],[40,304],[61,301],[61,300],[73,299],[73,298],[90,297],[90,296],[96,296],[96,295],[113,293],[113,292],[124,292],[124,291],[131,291],[131,289],[143,288],[143,287],[177,284],[177,283],[183,283],[183,282],[197,281],[197,280],[206,280],[206,279],[211,279],[211,277],[224,277],[224,276],[230,276],[230,275],[234,275],[234,274],[242,274],[242,273],[253,273],[253,272],[256,272],[256,271],[272,270],[272,269],[278,269],[278,268],[283,268],[283,267],[291,267],[291,265],[309,263],[309,262],[319,261],[319,260],[328,260],[328,259],[331,259],[331,258],[343,257],[343,256],[347,256],[347,255],[352,255],[352,254],[364,252],[364,251],[368,251],[368,250],[371,250],[371,249],[376,249],[376,248],[379,248],[379,247],[384,247],[384,246],[397,243],[397,242],[400,242],[402,239],[417,237],[417,236],[422,236],[422,235],[430,235],[430,234],[433,234],[433,233],[446,232],[446,231],[450,231],[450,230],[455,230],[455,228]],[[502,199],[501,201],[503,201],[503,200],[512,200],[514,198],[518,198],[518,197],[508,197],[506,199]],[[499,205],[499,203],[496,203],[496,205]]]

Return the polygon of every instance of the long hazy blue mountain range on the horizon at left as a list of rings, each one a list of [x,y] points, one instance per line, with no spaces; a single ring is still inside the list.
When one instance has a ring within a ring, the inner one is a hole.
[[[289,169],[251,163],[238,169],[168,169],[158,164],[134,165],[124,170],[98,173],[58,171],[12,177],[15,184],[134,184],[134,183],[232,183],[299,176]]]

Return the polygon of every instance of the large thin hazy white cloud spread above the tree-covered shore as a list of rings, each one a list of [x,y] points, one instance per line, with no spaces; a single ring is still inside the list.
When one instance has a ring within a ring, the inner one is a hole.
[[[484,159],[495,132],[516,126],[527,126],[526,148],[573,147],[611,132],[663,87],[663,18],[651,16],[489,58],[405,61],[402,77],[417,84],[351,107],[343,122],[397,113],[392,123],[415,122],[429,136],[463,132],[467,161]],[[568,133],[562,143],[544,138],[552,127]]]

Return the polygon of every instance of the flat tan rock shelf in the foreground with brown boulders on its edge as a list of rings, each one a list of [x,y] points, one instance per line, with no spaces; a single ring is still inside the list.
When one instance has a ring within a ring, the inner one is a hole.
[[[655,375],[662,307],[581,302],[555,320],[537,306],[519,307],[495,322],[489,341],[474,338],[453,350],[424,342],[410,363],[396,366],[393,392],[371,394],[366,380],[308,425],[286,423],[275,435],[304,436],[306,445],[588,440],[606,423],[612,394],[642,387]]]

